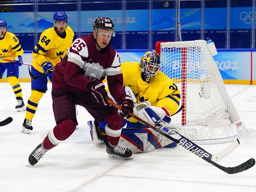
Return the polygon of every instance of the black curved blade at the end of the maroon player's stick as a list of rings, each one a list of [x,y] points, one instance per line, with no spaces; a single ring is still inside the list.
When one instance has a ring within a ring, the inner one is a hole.
[[[235,166],[235,167],[224,167],[224,166],[221,166],[220,164],[217,164],[216,162],[213,162],[212,160],[210,160],[206,157],[203,157],[203,159],[228,174],[235,174],[235,173],[243,172],[245,170],[250,169],[251,167],[253,167],[255,165],[254,158],[250,158],[246,162],[244,162],[238,166]]]

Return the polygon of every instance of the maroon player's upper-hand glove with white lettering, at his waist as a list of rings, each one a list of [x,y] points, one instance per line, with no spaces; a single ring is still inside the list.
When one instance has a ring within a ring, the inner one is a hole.
[[[107,105],[108,93],[105,89],[104,83],[98,80],[88,83],[87,90],[92,93],[98,103]]]

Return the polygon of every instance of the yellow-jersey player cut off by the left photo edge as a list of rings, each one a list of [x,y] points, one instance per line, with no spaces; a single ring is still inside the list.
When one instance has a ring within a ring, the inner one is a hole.
[[[23,49],[16,35],[7,31],[7,23],[5,20],[0,20],[0,58],[6,60],[15,60],[15,62],[8,62],[0,60],[0,79],[3,77],[7,69],[7,79],[12,90],[16,96],[18,112],[25,110],[25,105],[22,98],[22,90],[19,78],[19,66],[22,65]]]

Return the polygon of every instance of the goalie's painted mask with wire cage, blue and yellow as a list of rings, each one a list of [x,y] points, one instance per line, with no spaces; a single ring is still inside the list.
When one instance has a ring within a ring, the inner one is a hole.
[[[150,83],[152,78],[160,70],[160,56],[156,51],[147,51],[140,60],[140,69],[142,71],[143,80]]]

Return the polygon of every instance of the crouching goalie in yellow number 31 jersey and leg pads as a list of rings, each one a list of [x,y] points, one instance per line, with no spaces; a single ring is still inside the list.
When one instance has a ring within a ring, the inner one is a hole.
[[[160,71],[160,56],[147,51],[138,62],[121,64],[124,90],[134,98],[134,114],[168,132],[164,126],[171,121],[170,115],[178,110],[180,91],[176,84]],[[111,95],[110,95],[111,97]],[[106,122],[89,121],[94,143],[104,139]],[[119,145],[132,152],[152,151],[158,148],[173,148],[177,144],[134,118],[124,121]]]

